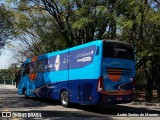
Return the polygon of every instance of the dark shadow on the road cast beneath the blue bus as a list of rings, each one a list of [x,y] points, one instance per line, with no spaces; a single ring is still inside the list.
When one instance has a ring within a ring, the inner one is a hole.
[[[50,105],[60,105],[59,101],[50,100],[50,99],[39,99],[32,98],[34,101],[41,101],[42,103],[47,103]],[[141,114],[141,113],[149,113],[149,114],[160,114],[160,111],[149,110],[145,108],[134,108],[130,106],[121,106],[121,105],[79,105],[79,104],[70,104],[69,108],[76,108],[79,110],[84,110],[87,112],[93,112],[98,114],[107,114],[107,115],[117,115],[118,113],[131,113],[131,114]]]

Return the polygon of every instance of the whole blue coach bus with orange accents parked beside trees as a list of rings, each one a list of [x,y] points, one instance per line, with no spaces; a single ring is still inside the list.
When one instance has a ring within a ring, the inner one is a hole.
[[[18,94],[82,105],[129,103],[134,97],[133,47],[116,40],[95,40],[27,59]]]

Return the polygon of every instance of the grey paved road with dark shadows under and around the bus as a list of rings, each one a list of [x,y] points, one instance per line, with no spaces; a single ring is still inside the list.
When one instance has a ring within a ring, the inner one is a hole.
[[[17,95],[16,91],[17,89],[14,86],[0,85],[0,120],[160,120],[160,116],[137,116],[143,114],[160,115],[160,106],[123,104],[97,107],[72,104],[70,108],[64,108],[59,101],[36,98],[25,99],[23,96]],[[6,112],[8,114],[11,112],[12,118],[2,117],[2,115],[6,115]],[[16,117],[16,115],[19,117]],[[126,115],[132,115],[132,117],[124,117]]]

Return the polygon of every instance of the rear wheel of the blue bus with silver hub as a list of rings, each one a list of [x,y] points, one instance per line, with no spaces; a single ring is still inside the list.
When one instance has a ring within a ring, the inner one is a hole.
[[[69,105],[69,96],[67,91],[63,91],[61,93],[61,105],[63,107],[68,107]]]

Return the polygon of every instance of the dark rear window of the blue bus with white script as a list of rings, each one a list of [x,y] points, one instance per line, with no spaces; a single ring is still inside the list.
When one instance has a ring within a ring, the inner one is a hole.
[[[134,51],[132,46],[129,44],[114,41],[104,41],[103,58],[134,60]]]

